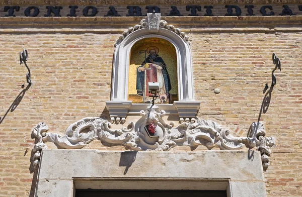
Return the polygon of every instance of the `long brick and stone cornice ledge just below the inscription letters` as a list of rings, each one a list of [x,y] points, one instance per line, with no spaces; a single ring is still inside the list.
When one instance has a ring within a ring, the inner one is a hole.
[[[0,33],[120,34],[142,19],[145,17],[4,17],[0,18]],[[162,17],[162,19],[170,25],[183,28],[182,31],[185,33],[302,31],[302,16]],[[220,25],[224,28],[219,28]]]

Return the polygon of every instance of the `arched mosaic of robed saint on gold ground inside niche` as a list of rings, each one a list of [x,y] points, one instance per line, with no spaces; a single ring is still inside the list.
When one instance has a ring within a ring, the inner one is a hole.
[[[150,103],[153,94],[148,92],[148,82],[160,83],[155,103],[169,104],[178,100],[176,51],[164,39],[145,38],[131,48],[128,100]]]

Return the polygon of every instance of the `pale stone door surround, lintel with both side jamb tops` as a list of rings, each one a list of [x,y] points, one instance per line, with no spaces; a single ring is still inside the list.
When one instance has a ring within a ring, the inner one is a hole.
[[[253,154],[253,159],[249,154]],[[107,189],[161,189],[163,186],[165,189],[218,189],[226,190],[232,197],[266,196],[259,152],[43,150],[36,187],[39,197],[72,196],[73,187],[102,189],[104,186]]]

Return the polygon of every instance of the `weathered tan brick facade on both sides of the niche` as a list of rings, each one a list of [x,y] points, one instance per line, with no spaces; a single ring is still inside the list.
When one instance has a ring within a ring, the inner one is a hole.
[[[295,1],[287,2],[298,7]],[[110,3],[84,5],[107,8]],[[193,3],[169,1],[184,8]],[[143,8],[149,2],[132,4]],[[35,5],[51,4],[37,1]],[[126,6],[117,5],[125,11]],[[163,3],[159,6],[169,8]],[[258,120],[265,83],[271,83],[271,56],[278,55],[282,70],[275,71],[277,84],[270,106],[260,118],[267,135],[276,138],[270,166],[264,172],[266,190],[267,196],[301,196],[302,16],[244,15],[163,18],[189,36],[195,100],[201,101],[198,117],[227,126],[238,136],[246,136],[250,124]],[[110,100],[113,46],[119,34],[142,18],[0,18],[0,196],[33,196],[35,173],[29,166],[34,125],[45,122],[50,131],[63,133],[84,117],[109,119],[105,102]],[[19,64],[19,53],[24,48],[28,50],[32,78],[28,90],[27,69]],[[221,92],[215,94],[214,88]],[[105,147],[93,141],[85,149],[124,147]],[[203,150],[199,147],[194,151]],[[172,151],[190,149],[178,147]]]

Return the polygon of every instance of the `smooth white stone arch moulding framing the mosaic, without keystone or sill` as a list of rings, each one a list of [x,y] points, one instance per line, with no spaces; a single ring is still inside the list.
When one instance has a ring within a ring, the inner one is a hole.
[[[179,83],[178,99],[179,101],[194,101],[190,46],[179,35],[164,28],[159,28],[159,32],[157,34],[150,34],[149,30],[146,28],[139,29],[129,34],[116,46],[113,60],[111,100],[127,100],[130,50],[139,40],[150,37],[165,39],[175,47],[177,54],[177,77]]]

